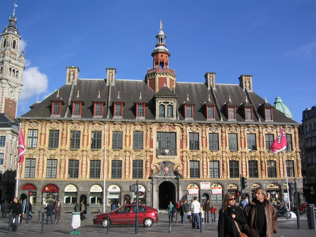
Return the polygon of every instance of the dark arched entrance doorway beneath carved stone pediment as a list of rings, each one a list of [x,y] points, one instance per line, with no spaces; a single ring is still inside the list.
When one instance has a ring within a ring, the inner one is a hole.
[[[170,181],[165,181],[159,185],[159,209],[167,209],[169,201],[176,203],[176,187]]]

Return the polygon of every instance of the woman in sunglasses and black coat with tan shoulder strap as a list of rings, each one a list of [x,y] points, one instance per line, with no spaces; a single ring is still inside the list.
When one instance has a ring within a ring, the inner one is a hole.
[[[247,223],[241,208],[236,206],[234,193],[228,192],[224,195],[222,208],[218,216],[218,237],[238,237],[238,231],[234,221],[238,223],[239,229]]]

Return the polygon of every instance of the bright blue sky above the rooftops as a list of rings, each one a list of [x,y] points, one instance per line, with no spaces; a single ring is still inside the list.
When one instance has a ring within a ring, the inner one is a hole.
[[[1,2],[0,28],[13,3]],[[253,91],[270,104],[280,96],[297,122],[316,104],[315,1],[15,3],[27,59],[18,116],[64,85],[66,66],[79,67],[79,78],[106,78],[106,68],[116,68],[117,79],[144,80],[161,19],[177,81],[205,82],[216,72],[216,83],[238,84],[253,75]]]

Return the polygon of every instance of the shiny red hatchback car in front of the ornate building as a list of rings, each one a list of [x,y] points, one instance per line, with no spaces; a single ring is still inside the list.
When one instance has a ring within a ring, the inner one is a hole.
[[[93,217],[94,224],[101,224],[103,228],[118,224],[135,224],[136,204],[125,204],[114,211],[111,211],[109,223],[107,223],[107,213],[102,213]],[[138,224],[143,224],[145,227],[151,227],[153,223],[158,222],[158,210],[145,206],[138,205]]]

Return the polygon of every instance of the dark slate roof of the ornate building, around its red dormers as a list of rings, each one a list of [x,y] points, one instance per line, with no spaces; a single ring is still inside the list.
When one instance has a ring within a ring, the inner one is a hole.
[[[113,120],[138,120],[136,119],[135,103],[146,103],[145,120],[155,120],[155,100],[156,97],[166,96],[173,97],[177,100],[177,112],[179,120],[184,121],[184,106],[187,96],[190,104],[193,106],[193,121],[207,121],[205,104],[216,105],[216,122],[231,122],[227,116],[227,102],[229,96],[232,105],[236,106],[236,122],[244,123],[265,123],[264,108],[262,106],[272,105],[265,102],[263,98],[252,91],[243,90],[240,85],[236,84],[216,84],[215,88],[208,88],[205,83],[193,82],[176,82],[174,91],[167,87],[162,87],[155,94],[145,81],[141,80],[115,80],[114,85],[106,85],[106,79],[78,79],[76,84],[67,83],[59,88],[59,99],[63,101],[62,112],[60,116],[52,116],[52,100],[57,100],[57,91],[48,96],[40,103],[34,104],[29,112],[18,118],[73,118],[71,117],[71,101],[78,101],[77,92],[79,90],[79,101],[83,101],[82,115],[80,119],[97,120],[93,117],[93,101],[104,101],[103,115],[100,119]],[[100,90],[100,98],[98,98]],[[109,91],[111,92],[109,94]],[[140,92],[142,98],[140,99]],[[119,98],[118,98],[119,94]],[[210,96],[210,101],[209,101]],[[248,100],[247,105],[253,106],[253,121],[245,121],[244,104]],[[123,117],[113,117],[113,102],[124,102]],[[159,118],[164,120],[164,118]],[[170,119],[165,119],[170,121]],[[142,120],[144,121],[144,120]],[[178,120],[175,120],[177,122]],[[282,112],[273,108],[273,121],[269,123],[296,123],[294,120],[286,117]]]

